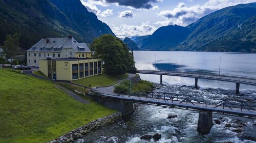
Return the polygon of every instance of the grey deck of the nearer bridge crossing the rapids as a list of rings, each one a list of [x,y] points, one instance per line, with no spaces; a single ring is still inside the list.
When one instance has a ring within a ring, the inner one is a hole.
[[[219,105],[210,105],[205,103],[196,103],[196,102],[184,102],[184,100],[173,100],[173,99],[163,99],[163,98],[151,98],[151,97],[141,97],[141,96],[127,96],[127,95],[110,95],[110,94],[94,94],[95,96],[104,96],[110,98],[119,98],[126,102],[134,102],[134,103],[144,103],[144,104],[157,104],[157,105],[165,105],[170,107],[179,107],[184,109],[195,109],[195,110],[203,110],[210,112],[218,112],[218,113],[228,113],[231,115],[238,116],[247,116],[250,118],[256,119],[256,110],[255,108],[239,108],[235,106],[224,106],[224,104]]]

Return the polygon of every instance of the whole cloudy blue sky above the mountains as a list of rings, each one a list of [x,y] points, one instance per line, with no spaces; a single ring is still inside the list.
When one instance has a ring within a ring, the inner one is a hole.
[[[152,34],[160,26],[186,26],[228,6],[256,0],[80,0],[117,37]]]

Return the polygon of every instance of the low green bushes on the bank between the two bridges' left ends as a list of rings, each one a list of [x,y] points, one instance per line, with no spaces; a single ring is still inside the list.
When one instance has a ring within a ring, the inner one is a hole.
[[[130,82],[130,80],[123,80],[120,84],[115,86],[114,93],[118,94],[130,94],[130,86],[131,86],[131,94],[139,91],[152,91],[153,83],[147,80],[139,80],[138,83]]]

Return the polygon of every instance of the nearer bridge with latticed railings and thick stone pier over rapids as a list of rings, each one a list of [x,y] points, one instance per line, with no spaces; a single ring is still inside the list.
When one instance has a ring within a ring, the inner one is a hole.
[[[229,101],[224,99],[218,103],[206,103],[199,101],[194,96],[162,92],[138,92],[132,95],[91,93],[91,95],[94,98],[98,97],[97,100],[102,98],[103,104],[121,110],[123,114],[131,110],[133,103],[200,111],[198,131],[202,134],[210,132],[212,113],[256,119],[255,101]]]

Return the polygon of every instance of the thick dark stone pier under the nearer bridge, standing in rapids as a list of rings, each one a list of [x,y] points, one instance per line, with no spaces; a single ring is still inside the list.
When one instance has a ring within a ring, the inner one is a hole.
[[[212,127],[212,113],[200,111],[197,125],[197,131],[200,134],[208,134]]]

